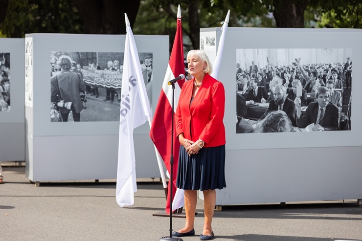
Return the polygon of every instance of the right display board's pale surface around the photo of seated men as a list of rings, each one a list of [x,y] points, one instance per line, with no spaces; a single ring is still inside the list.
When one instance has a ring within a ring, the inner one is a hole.
[[[221,29],[201,29],[204,38],[215,34],[217,46]],[[227,187],[217,191],[218,205],[362,198],[362,126],[357,121],[362,118],[362,105],[357,94],[352,97],[351,130],[289,133],[236,133],[236,94],[232,94],[236,63],[249,68],[254,60],[263,66],[268,63],[264,49],[274,53],[269,61],[284,59],[280,65],[292,63],[295,53],[303,53],[301,62],[306,63],[331,58],[339,63],[349,57],[354,66],[353,89],[358,90],[362,87],[361,39],[361,29],[227,28],[218,76],[226,91]],[[265,62],[259,61],[263,58]]]

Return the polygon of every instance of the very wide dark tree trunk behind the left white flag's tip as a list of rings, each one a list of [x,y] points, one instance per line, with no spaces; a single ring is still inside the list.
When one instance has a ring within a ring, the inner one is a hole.
[[[126,34],[124,13],[136,21],[140,0],[73,0],[88,34]]]

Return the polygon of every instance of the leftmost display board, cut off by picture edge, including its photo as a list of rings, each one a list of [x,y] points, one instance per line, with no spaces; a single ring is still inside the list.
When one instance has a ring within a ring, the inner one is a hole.
[[[24,40],[0,38],[0,161],[25,160]]]

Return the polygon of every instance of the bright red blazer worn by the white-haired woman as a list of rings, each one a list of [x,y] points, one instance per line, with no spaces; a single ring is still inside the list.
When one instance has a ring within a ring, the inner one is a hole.
[[[225,145],[225,89],[221,82],[206,74],[194,100],[191,101],[195,79],[185,82],[176,110],[176,133],[186,139],[205,142],[205,147]]]

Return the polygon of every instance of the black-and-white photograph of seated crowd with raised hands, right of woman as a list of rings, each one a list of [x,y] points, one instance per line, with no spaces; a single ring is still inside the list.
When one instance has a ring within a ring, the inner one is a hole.
[[[350,131],[352,49],[236,49],[236,133]]]

